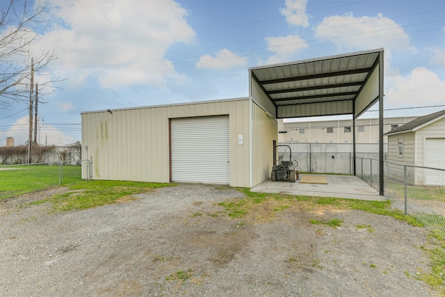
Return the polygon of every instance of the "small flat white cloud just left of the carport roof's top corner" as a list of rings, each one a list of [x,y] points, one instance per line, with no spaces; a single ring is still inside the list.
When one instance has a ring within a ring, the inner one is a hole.
[[[210,69],[230,69],[245,65],[246,63],[246,58],[238,56],[228,49],[221,49],[214,56],[201,56],[200,61],[197,61],[196,63],[196,67]]]

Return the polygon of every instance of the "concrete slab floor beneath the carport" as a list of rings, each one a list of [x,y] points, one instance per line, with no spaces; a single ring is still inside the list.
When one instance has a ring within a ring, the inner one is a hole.
[[[305,175],[300,174],[300,179]],[[280,193],[286,195],[304,195],[318,197],[334,197],[369,201],[385,201],[378,191],[353,175],[308,175],[326,177],[327,184],[300,184],[300,179],[293,182],[270,179],[254,186],[250,191],[258,193]]]

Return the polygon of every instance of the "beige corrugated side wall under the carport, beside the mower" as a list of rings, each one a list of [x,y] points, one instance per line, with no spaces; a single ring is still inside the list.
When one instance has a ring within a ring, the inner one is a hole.
[[[252,186],[270,178],[273,141],[278,144],[278,122],[252,102]]]

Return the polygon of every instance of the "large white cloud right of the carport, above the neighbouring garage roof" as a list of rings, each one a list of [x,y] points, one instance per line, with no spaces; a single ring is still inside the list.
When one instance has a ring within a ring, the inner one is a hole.
[[[385,109],[445,104],[445,81],[426,67],[415,68],[407,77],[387,80],[387,84]]]

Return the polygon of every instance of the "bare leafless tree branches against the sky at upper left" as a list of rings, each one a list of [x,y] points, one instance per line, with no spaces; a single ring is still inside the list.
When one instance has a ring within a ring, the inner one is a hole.
[[[37,3],[37,1],[36,1]],[[33,30],[41,22],[44,6],[29,8],[26,0],[0,2],[0,106],[29,101],[31,55],[34,57],[34,73],[44,74],[48,65],[56,59],[53,51],[31,53],[31,44],[37,37]],[[61,79],[39,81],[40,94],[54,90],[53,83]]]

